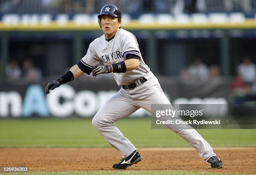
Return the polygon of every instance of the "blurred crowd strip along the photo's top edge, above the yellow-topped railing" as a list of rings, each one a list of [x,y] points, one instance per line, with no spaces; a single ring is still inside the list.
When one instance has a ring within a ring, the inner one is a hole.
[[[122,13],[200,13],[256,10],[256,0],[0,0],[0,13],[99,13],[106,4]]]

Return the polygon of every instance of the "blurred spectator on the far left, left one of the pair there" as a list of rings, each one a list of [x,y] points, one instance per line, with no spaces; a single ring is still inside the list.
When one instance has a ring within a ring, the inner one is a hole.
[[[7,80],[14,81],[21,78],[21,69],[18,66],[17,61],[13,60],[6,67]]]

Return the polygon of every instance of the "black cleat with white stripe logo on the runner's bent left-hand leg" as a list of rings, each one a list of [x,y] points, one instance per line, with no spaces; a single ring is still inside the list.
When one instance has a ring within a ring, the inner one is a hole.
[[[141,155],[138,153],[137,150],[135,150],[128,157],[122,158],[118,164],[114,164],[113,168],[118,170],[124,170],[128,166],[131,166],[134,163],[141,161],[141,159],[142,159]]]

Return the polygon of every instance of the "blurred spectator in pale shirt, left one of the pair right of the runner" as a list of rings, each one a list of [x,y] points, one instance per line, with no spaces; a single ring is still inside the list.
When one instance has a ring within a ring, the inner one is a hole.
[[[208,68],[202,63],[201,59],[197,58],[187,69],[188,76],[192,79],[207,80]]]

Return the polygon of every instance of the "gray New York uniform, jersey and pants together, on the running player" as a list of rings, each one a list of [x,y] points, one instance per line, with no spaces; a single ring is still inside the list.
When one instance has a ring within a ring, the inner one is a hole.
[[[113,64],[130,58],[140,60],[139,68],[125,73],[113,73],[118,86],[131,84],[142,77],[147,81],[134,89],[121,88],[100,108],[92,120],[98,132],[110,145],[119,150],[123,157],[130,155],[136,147],[123,136],[114,122],[131,115],[139,108],[151,113],[151,104],[170,104],[170,102],[164,95],[157,78],[144,63],[135,36],[126,30],[119,29],[110,40],[106,40],[104,35],[95,39],[90,44],[87,54],[77,64],[82,71],[91,74],[92,68],[100,62]],[[175,129],[172,124],[166,127],[195,147],[203,159],[207,160],[215,155],[212,147],[195,129]]]

